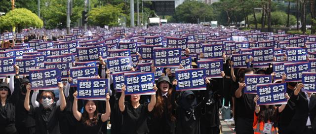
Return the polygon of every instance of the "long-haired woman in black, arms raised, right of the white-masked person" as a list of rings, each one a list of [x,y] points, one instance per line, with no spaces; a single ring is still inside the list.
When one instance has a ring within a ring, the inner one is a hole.
[[[104,122],[106,122],[111,114],[110,108],[110,96],[106,94],[106,113],[99,113],[97,109],[98,100],[85,100],[84,110],[81,114],[78,111],[78,92],[74,93],[73,114],[78,121],[77,134],[102,134],[101,128]]]

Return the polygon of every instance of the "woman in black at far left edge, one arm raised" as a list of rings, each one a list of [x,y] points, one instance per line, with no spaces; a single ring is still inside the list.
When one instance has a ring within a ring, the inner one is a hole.
[[[0,134],[17,134],[15,128],[15,107],[20,92],[19,67],[14,66],[14,90],[11,94],[9,84],[0,82]],[[12,82],[12,81],[11,81]],[[10,83],[12,85],[13,83]]]

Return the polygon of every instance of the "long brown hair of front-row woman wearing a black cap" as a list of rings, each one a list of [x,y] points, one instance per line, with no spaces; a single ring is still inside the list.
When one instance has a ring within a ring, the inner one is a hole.
[[[156,94],[156,104],[155,104],[155,110],[154,110],[154,116],[156,118],[161,118],[161,115],[163,111],[167,111],[168,115],[170,116],[171,121],[175,121],[175,116],[172,114],[172,102],[171,102],[171,94],[172,94],[172,85],[169,85],[169,90],[167,91],[167,99],[163,99],[161,90],[159,88],[159,84],[157,85],[157,94]],[[168,110],[163,109],[164,108],[164,102],[168,101]]]

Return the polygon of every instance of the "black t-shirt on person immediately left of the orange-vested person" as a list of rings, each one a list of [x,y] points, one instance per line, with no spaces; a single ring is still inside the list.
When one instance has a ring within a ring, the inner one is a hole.
[[[256,106],[256,103],[253,101],[253,99],[256,97],[256,95],[244,94],[243,90],[241,92],[241,97],[235,98],[235,117],[253,119],[253,113]]]

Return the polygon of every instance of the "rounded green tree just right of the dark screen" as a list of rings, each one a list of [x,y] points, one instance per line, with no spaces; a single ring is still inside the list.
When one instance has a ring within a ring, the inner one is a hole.
[[[197,23],[198,21],[211,21],[212,8],[198,1],[185,1],[175,8],[173,18],[176,22]]]

